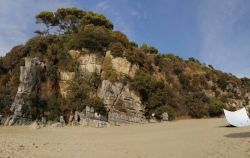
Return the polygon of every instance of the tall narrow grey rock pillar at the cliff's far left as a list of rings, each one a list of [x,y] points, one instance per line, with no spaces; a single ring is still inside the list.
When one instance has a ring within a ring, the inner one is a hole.
[[[10,110],[13,115],[5,122],[6,125],[23,125],[31,123],[30,119],[30,101],[28,98],[32,92],[37,91],[39,85],[39,75],[37,66],[44,67],[39,58],[25,58],[25,66],[20,67],[20,84],[14,102]]]

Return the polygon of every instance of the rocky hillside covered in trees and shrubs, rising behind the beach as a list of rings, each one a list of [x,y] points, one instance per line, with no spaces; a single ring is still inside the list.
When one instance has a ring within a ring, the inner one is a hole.
[[[0,58],[2,123],[35,119],[66,123],[84,117],[110,123],[217,117],[247,106],[250,79],[138,46],[101,14],[76,8],[41,12],[44,26]],[[89,113],[84,113],[88,111]]]

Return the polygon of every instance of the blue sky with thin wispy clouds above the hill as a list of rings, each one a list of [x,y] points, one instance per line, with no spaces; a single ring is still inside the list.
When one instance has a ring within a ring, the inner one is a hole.
[[[0,0],[0,55],[34,36],[38,12],[60,7],[103,13],[139,44],[250,77],[249,0]]]

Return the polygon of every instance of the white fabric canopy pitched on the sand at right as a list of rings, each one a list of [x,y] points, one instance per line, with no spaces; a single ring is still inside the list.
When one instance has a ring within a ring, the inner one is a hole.
[[[230,125],[233,125],[235,127],[244,127],[250,125],[250,119],[247,115],[247,111],[245,108],[242,108],[240,110],[231,112],[228,110],[224,110],[227,122]]]

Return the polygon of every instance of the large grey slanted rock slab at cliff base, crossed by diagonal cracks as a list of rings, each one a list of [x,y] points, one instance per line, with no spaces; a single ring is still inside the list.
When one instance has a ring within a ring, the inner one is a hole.
[[[140,97],[127,85],[103,80],[98,96],[103,99],[109,111],[110,123],[142,123],[145,120]]]

